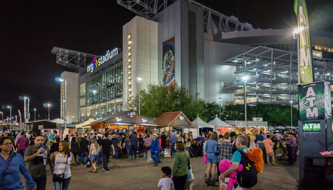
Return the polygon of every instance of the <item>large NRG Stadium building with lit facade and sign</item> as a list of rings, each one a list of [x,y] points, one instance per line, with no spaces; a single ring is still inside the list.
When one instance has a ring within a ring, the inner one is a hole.
[[[77,69],[61,74],[62,118],[86,121],[127,110],[148,83],[177,83],[222,105],[244,103],[245,84],[247,104],[297,104],[291,29],[254,29],[192,0],[117,2],[138,14],[123,26],[123,47],[101,55],[52,49],[58,64]],[[333,33],[310,36],[315,80],[333,82]]]

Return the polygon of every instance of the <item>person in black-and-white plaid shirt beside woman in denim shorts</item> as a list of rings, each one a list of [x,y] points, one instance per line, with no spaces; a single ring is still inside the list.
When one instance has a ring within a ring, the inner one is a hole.
[[[224,134],[224,136],[219,135],[219,143],[217,145],[218,150],[218,164],[223,159],[231,160],[232,158],[232,143],[229,143],[229,134]],[[220,171],[217,170],[217,176],[220,176]]]

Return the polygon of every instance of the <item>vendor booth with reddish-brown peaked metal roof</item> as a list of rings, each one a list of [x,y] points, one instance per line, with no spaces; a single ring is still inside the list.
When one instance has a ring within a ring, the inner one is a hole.
[[[177,131],[184,133],[184,129],[186,129],[187,132],[195,129],[192,122],[182,111],[162,113],[155,119],[154,122],[160,126],[158,128],[159,133],[163,131],[166,135],[170,135],[170,133]],[[194,137],[193,131],[191,132]]]

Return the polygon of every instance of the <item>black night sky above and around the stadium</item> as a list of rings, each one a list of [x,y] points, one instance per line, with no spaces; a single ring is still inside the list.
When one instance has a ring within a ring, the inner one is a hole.
[[[23,114],[23,96],[30,97],[31,120],[60,117],[60,83],[63,71],[73,69],[56,64],[53,46],[100,55],[122,48],[123,25],[136,16],[132,11],[105,1],[0,1],[0,111],[4,118]],[[292,0],[262,1],[198,0],[227,16],[260,29],[291,29],[296,26]],[[217,2],[217,3],[216,3]],[[333,1],[307,1],[310,30],[333,32]],[[20,98],[21,96],[21,98]],[[37,118],[36,118],[37,119]]]

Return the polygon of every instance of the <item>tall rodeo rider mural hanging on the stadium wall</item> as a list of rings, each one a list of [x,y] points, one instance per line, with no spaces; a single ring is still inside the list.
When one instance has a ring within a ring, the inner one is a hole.
[[[174,37],[163,42],[162,86],[174,84]]]

